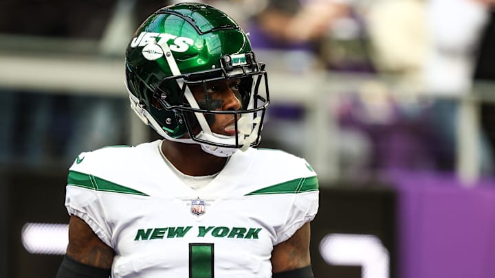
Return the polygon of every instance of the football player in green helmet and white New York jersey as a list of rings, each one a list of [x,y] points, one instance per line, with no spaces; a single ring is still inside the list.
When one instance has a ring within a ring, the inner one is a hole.
[[[316,173],[253,148],[270,98],[239,25],[201,3],[157,10],[125,71],[131,108],[164,139],[79,154],[56,277],[313,277]]]

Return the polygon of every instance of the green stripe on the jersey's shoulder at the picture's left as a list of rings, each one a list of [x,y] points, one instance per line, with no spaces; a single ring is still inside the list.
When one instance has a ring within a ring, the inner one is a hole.
[[[104,180],[103,178],[98,178],[98,176],[72,170],[69,171],[69,176],[67,176],[67,185],[83,187],[94,191],[148,196],[147,194],[139,192],[135,189],[118,185],[117,183],[112,183],[111,181]]]

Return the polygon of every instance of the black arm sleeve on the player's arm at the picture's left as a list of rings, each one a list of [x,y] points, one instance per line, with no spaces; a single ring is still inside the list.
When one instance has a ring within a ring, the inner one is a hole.
[[[67,255],[64,256],[55,278],[109,278],[110,270],[96,268],[74,261]]]

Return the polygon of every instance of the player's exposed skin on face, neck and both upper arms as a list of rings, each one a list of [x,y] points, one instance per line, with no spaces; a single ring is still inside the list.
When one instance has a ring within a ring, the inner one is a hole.
[[[236,80],[208,84],[208,97],[215,100],[212,110],[238,110],[241,108],[239,93],[236,92]],[[238,83],[238,82],[237,82]],[[192,86],[191,92],[199,103],[205,100],[202,86]],[[232,115],[216,115],[210,123],[212,132],[228,134],[228,126],[232,124]],[[190,176],[205,176],[215,174],[223,169],[227,158],[216,157],[201,150],[197,144],[186,144],[164,140],[162,152],[184,174]],[[287,270],[303,268],[311,264],[309,257],[310,228],[306,223],[292,235],[291,238],[274,246],[272,251],[272,272],[280,273]],[[84,220],[71,216],[69,222],[69,245],[67,256],[89,266],[110,269],[114,251],[104,244]]]

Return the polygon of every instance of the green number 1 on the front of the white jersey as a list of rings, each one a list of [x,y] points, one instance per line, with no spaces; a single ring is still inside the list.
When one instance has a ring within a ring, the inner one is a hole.
[[[213,244],[189,244],[189,278],[213,278]]]

